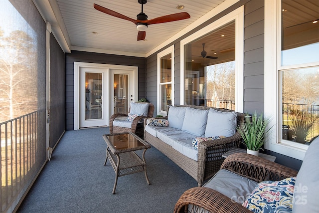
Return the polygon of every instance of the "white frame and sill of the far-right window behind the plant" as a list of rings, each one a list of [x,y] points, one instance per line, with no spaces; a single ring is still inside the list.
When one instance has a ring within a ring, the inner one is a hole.
[[[279,70],[319,65],[318,62],[281,66],[281,0],[265,0],[265,106],[264,114],[271,117],[269,126],[274,126],[265,148],[292,158],[303,160],[307,145],[281,139],[281,76]]]

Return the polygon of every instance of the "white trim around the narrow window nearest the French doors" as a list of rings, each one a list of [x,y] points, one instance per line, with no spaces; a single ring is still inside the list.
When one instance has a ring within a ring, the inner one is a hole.
[[[166,116],[167,115],[167,112],[166,111],[162,111],[160,110],[160,85],[163,85],[163,84],[171,84],[171,94],[170,94],[170,99],[171,99],[171,104],[174,105],[174,71],[175,71],[175,54],[174,54],[174,45],[166,48],[165,50],[161,51],[158,53],[158,105],[157,105],[157,108],[158,108],[158,115],[162,115],[162,116]],[[160,58],[165,56],[165,55],[168,55],[168,54],[171,54],[171,81],[170,82],[165,82],[163,84],[160,84]]]

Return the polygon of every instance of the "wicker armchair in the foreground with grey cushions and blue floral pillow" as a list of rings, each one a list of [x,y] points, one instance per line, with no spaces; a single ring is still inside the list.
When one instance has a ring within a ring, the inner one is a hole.
[[[298,173],[253,155],[230,155],[203,187],[182,194],[174,213],[318,212],[318,150],[319,137],[309,146]]]

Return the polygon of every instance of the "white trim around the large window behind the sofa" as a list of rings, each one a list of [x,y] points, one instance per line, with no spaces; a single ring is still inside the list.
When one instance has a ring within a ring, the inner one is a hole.
[[[235,20],[235,63],[236,63],[236,92],[235,111],[244,111],[244,6],[229,12],[213,23],[198,30],[180,41],[180,104],[184,105],[184,46],[191,41],[214,31],[230,21]]]

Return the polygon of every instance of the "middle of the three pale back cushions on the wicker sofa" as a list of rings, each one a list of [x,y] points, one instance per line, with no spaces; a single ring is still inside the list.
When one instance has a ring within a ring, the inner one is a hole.
[[[205,133],[208,110],[186,107],[185,118],[181,130],[196,136]]]

